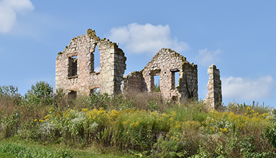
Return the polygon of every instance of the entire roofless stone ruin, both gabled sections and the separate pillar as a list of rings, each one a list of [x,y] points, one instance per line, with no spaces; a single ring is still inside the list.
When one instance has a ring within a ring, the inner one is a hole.
[[[155,91],[155,76],[159,76],[160,94],[168,100],[198,98],[197,65],[189,63],[172,49],[161,49],[141,71],[133,71],[124,76],[126,56],[116,43],[96,36],[95,30],[88,29],[86,34],[72,38],[56,60],[57,90],[63,89],[70,98],[77,94],[90,95],[108,93],[118,95],[128,91]],[[95,71],[95,49],[99,49],[99,71]],[[179,74],[178,83],[175,76]],[[210,109],[221,105],[221,80],[219,69],[211,65],[208,69],[208,95],[204,102]],[[123,77],[124,76],[124,77]],[[122,89],[122,91],[121,91]]]

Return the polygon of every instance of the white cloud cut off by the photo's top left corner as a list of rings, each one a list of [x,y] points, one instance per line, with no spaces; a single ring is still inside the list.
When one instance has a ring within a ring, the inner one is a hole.
[[[8,33],[17,21],[17,14],[34,10],[30,0],[0,1],[0,33]]]

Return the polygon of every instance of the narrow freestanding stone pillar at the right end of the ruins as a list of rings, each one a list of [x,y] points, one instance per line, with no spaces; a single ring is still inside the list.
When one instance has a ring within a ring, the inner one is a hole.
[[[208,69],[209,81],[207,84],[208,94],[204,102],[209,106],[209,109],[219,109],[222,102],[221,95],[221,80],[219,69],[215,65],[210,65]]]

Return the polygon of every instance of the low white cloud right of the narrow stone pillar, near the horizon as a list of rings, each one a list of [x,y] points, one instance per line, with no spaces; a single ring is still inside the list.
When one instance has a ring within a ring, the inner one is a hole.
[[[271,76],[251,80],[248,78],[223,78],[222,94],[226,99],[257,100],[268,98],[275,84]]]

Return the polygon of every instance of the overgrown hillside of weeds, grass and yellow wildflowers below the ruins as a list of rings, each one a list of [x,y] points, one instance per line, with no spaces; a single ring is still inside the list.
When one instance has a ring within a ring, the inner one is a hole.
[[[275,120],[266,106],[208,111],[158,93],[72,100],[47,82],[23,96],[1,86],[0,157],[275,157]]]

